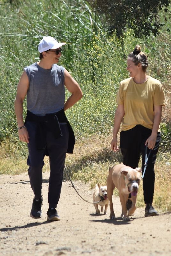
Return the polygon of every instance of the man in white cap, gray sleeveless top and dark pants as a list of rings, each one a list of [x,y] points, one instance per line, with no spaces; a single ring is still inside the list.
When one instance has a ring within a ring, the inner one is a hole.
[[[28,143],[28,174],[34,193],[30,216],[42,215],[42,167],[44,156],[50,160],[47,220],[60,220],[56,210],[62,186],[66,153],[73,153],[74,132],[65,111],[82,98],[78,83],[58,66],[61,46],[51,36],[39,43],[40,61],[24,68],[15,100],[19,139]],[[65,87],[71,96],[65,102]],[[27,116],[23,121],[23,101],[27,95]]]

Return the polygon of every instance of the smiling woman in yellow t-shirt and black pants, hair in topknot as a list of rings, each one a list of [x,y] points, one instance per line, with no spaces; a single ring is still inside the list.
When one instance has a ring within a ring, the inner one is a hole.
[[[115,113],[111,142],[112,150],[117,151],[117,134],[122,123],[120,149],[123,155],[123,164],[136,168],[140,156],[142,156],[142,173],[144,172],[146,145],[148,151],[152,150],[143,178],[146,217],[158,215],[152,206],[155,182],[154,163],[161,141],[162,106],[166,105],[162,85],[157,79],[147,75],[147,67],[147,56],[141,52],[141,47],[136,45],[127,59],[130,78],[121,81],[119,86],[116,99],[118,107]],[[130,207],[128,206],[128,208]]]

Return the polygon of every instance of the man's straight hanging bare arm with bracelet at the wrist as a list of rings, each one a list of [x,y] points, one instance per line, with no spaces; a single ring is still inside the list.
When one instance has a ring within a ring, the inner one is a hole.
[[[24,125],[23,101],[26,97],[28,88],[29,88],[29,80],[26,72],[24,71],[17,86],[17,95],[15,99],[15,114],[17,117],[18,127],[22,127]],[[28,140],[29,136],[26,128],[19,130],[19,139],[21,141],[29,143],[29,140]]]

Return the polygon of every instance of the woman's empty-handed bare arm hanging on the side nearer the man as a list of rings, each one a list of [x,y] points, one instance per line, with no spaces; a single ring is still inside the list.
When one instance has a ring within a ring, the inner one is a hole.
[[[111,148],[113,151],[117,151],[118,150],[118,146],[117,146],[117,134],[119,132],[120,129],[120,124],[122,122],[122,119],[124,117],[124,105],[118,105],[117,109],[116,109],[116,113],[115,113],[115,118],[114,118],[114,128],[113,128],[113,139],[111,142]]]

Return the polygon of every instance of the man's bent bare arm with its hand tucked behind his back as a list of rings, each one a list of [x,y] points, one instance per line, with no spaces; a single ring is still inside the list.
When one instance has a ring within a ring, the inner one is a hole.
[[[71,108],[77,101],[79,101],[82,98],[83,94],[78,83],[74,80],[74,78],[72,78],[72,76],[66,69],[64,70],[64,78],[65,86],[68,91],[71,92],[71,96],[64,104],[64,110],[67,110],[68,108]]]

